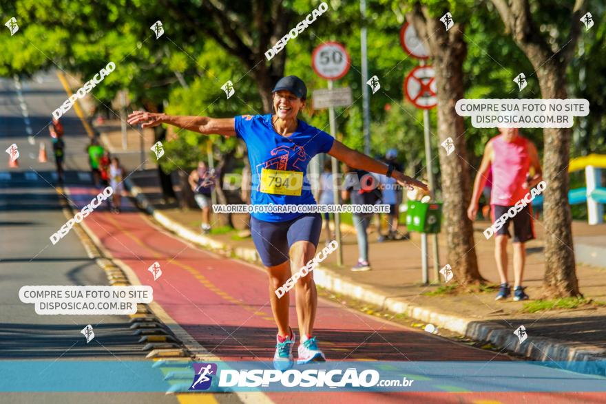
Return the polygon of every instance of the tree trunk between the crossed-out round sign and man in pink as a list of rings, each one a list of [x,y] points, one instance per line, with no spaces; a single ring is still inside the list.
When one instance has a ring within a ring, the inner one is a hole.
[[[425,15],[423,15],[425,14]],[[438,147],[440,154],[442,196],[444,200],[443,231],[448,245],[448,264],[460,284],[478,284],[485,281],[478,270],[474,248],[472,222],[467,217],[471,198],[469,164],[467,162],[463,117],[454,110],[457,100],[464,98],[463,61],[467,45],[463,28],[455,24],[446,31],[442,23],[431,18],[424,8],[408,14],[419,37],[429,43],[437,85],[438,143],[452,138],[454,151]],[[434,33],[428,36],[428,33]],[[435,136],[432,136],[434,138]]]

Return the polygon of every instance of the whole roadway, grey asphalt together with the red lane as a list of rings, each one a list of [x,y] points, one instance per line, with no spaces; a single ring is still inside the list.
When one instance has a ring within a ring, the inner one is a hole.
[[[21,97],[17,91],[21,87]],[[145,352],[129,330],[126,316],[41,316],[32,304],[18,297],[25,285],[107,285],[105,273],[89,259],[74,231],[56,245],[49,236],[67,220],[52,178],[52,163],[37,162],[39,142],[48,142],[50,112],[63,103],[66,94],[52,74],[17,85],[14,79],[0,81],[0,146],[17,143],[19,169],[0,170],[2,206],[2,257],[0,261],[0,366],[14,365],[15,374],[0,378],[1,390],[10,390],[12,380],[25,390],[36,383],[54,381],[61,390],[61,372],[67,361],[107,361],[114,366],[106,373],[81,374],[82,383],[102,383],[107,390],[96,393],[0,393],[8,403],[600,403],[603,393],[589,392],[478,392],[490,383],[478,379],[476,386],[463,388],[445,376],[412,375],[436,389],[434,392],[264,392],[250,400],[236,394],[196,394],[175,397],[163,393],[112,393],[112,384],[143,383]],[[21,105],[25,105],[22,107]],[[26,114],[23,111],[27,111]],[[27,116],[25,116],[27,115]],[[27,120],[26,120],[27,118]],[[70,111],[63,119],[68,170],[65,193],[78,206],[89,202],[98,190],[90,185],[85,171],[85,131]],[[33,145],[28,140],[28,125]],[[4,158],[3,161],[7,161]],[[134,168],[134,167],[127,167]],[[188,347],[211,352],[220,361],[255,361],[271,364],[275,324],[271,317],[267,275],[260,268],[191,246],[170,235],[125,200],[121,215],[97,209],[83,222],[112,258],[132,272],[138,282],[154,289],[154,302],[191,337]],[[158,262],[163,275],[154,281],[149,266]],[[292,297],[291,297],[292,298]],[[86,343],[80,331],[91,324],[95,338]],[[291,326],[296,326],[291,299]],[[315,334],[329,361],[470,361],[489,367],[510,358],[471,348],[413,328],[390,323],[321,299]],[[8,362],[19,360],[17,362]],[[34,363],[28,374],[23,366]],[[117,366],[117,368],[116,368]],[[6,367],[5,367],[6,368]],[[83,370],[91,369],[90,366]],[[481,368],[479,368],[481,369]],[[5,369],[6,370],[6,369]],[[520,375],[519,378],[531,375]],[[562,380],[572,377],[557,374]],[[516,376],[517,377],[517,376]],[[21,379],[20,379],[21,378]],[[515,377],[514,377],[515,379]],[[28,379],[29,380],[29,379]],[[560,380],[560,379],[558,379]],[[2,385],[5,383],[5,385]],[[482,384],[484,383],[484,384]],[[541,383],[541,380],[531,383]],[[488,387],[487,387],[488,386]],[[50,389],[52,390],[52,389]],[[119,389],[118,389],[119,391]],[[598,390],[599,391],[599,390]]]

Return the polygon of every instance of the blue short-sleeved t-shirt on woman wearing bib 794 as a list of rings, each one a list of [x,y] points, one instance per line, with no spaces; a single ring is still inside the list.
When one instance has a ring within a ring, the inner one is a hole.
[[[328,153],[334,138],[325,131],[299,120],[299,126],[288,138],[271,125],[271,114],[236,116],[236,134],[246,142],[252,171],[251,203],[255,204],[315,204],[307,180],[307,164],[317,153]],[[262,169],[299,171],[303,173],[300,196],[278,195],[260,191]],[[304,213],[252,213],[264,222],[287,222]]]

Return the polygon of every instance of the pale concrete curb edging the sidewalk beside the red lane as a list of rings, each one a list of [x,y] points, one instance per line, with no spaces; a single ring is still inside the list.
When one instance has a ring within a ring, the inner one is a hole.
[[[176,235],[224,255],[243,259],[247,262],[260,263],[257,252],[253,248],[232,248],[222,242],[211,240],[210,237],[191,231],[182,224],[174,222],[160,211],[156,211],[147,202],[141,189],[134,186],[129,178],[125,180],[125,184],[140,206]],[[431,323],[437,328],[446,328],[474,341],[490,342],[500,350],[522,355],[532,361],[568,362],[567,364],[558,363],[558,365],[575,372],[606,375],[606,350],[594,345],[558,341],[546,337],[532,337],[532,332],[523,343],[519,343],[518,337],[513,332],[514,330],[502,324],[492,321],[479,321],[472,317],[460,317],[435,310],[435,308],[415,306],[411,301],[401,297],[389,297],[378,288],[357,284],[352,279],[322,266],[315,268],[314,280],[315,284],[331,290],[333,293],[353,297],[368,304],[379,306],[384,310]],[[513,324],[515,327],[521,325],[523,324]]]

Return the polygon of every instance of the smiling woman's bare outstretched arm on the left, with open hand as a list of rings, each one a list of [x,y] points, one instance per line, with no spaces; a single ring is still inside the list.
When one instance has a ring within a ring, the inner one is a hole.
[[[142,128],[158,126],[167,123],[198,132],[200,134],[218,134],[222,136],[236,136],[234,118],[209,118],[208,116],[178,116],[167,114],[154,114],[146,111],[134,111],[128,116],[129,125],[141,124]]]

